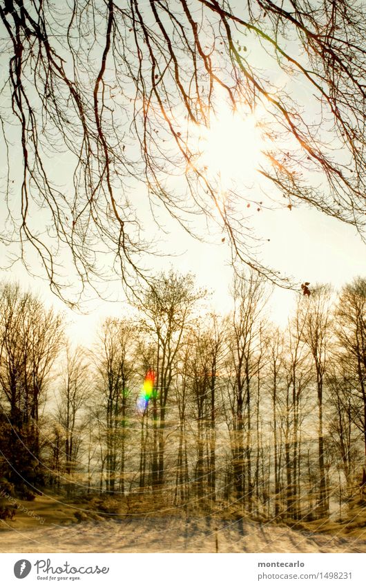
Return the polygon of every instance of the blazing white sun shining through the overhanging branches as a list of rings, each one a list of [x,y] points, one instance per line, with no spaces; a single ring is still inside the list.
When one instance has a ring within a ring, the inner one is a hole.
[[[200,164],[218,178],[222,189],[237,183],[253,185],[263,155],[264,139],[256,113],[233,111],[223,104],[200,130]]]

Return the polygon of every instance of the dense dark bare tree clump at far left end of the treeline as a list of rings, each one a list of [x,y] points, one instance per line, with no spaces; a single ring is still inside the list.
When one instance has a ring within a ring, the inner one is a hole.
[[[63,336],[61,315],[18,285],[1,285],[0,394],[9,426],[9,474],[17,485],[40,472],[39,406]]]

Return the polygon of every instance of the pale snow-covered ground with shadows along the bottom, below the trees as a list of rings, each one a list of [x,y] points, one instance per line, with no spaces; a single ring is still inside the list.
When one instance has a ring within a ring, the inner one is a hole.
[[[217,531],[215,530],[217,528]],[[253,521],[127,518],[4,530],[1,552],[366,552],[365,539]]]

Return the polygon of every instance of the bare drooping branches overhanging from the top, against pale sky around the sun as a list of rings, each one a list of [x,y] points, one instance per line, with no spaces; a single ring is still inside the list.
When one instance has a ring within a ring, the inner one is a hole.
[[[201,157],[197,136],[223,100],[258,118],[263,205],[305,203],[363,234],[360,0],[2,0],[0,23],[1,241],[28,266],[35,251],[71,304],[111,273],[127,287],[148,276],[148,230],[164,210],[195,236],[202,214],[234,261],[286,283],[251,246],[245,204],[265,196],[223,196]]]

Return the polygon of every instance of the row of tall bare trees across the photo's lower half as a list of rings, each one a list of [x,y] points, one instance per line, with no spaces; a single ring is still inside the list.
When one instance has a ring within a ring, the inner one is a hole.
[[[366,279],[298,295],[283,330],[257,274],[231,292],[221,317],[191,274],[160,274],[135,317],[107,319],[86,349],[61,315],[3,284],[1,487],[286,520],[363,499]]]

